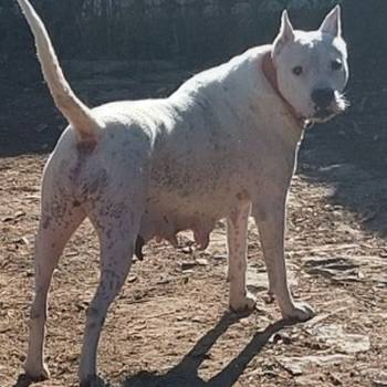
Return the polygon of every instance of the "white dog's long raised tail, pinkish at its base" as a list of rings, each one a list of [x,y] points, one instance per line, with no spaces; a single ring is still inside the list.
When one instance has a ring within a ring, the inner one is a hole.
[[[18,0],[35,39],[38,57],[56,107],[77,133],[80,140],[96,142],[103,128],[92,111],[80,101],[63,75],[49,33],[28,0]]]

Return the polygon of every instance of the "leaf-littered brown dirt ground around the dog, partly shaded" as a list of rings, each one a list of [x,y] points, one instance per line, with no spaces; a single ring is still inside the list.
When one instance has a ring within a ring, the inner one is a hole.
[[[133,77],[113,67],[107,74],[69,66],[70,79],[98,104],[166,95],[189,76],[166,64]],[[286,326],[275,303],[265,302],[253,224],[248,279],[259,303],[248,316],[228,313],[222,223],[205,252],[191,249],[189,233],[178,250],[150,243],[106,320],[100,346],[106,386],[387,386],[387,106],[386,88],[375,85],[353,82],[349,112],[306,133],[292,185],[291,284],[317,316]],[[63,121],[42,84],[4,83],[0,107],[0,386],[7,387],[15,385],[25,357],[40,179]],[[55,271],[46,343],[52,379],[41,386],[76,386],[97,265],[86,222]]]

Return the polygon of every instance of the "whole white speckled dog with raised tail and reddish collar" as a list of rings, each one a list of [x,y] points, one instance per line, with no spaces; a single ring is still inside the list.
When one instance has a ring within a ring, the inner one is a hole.
[[[87,311],[81,386],[96,386],[96,349],[106,312],[134,252],[149,239],[176,244],[191,229],[205,249],[227,218],[230,306],[251,310],[245,287],[247,227],[259,227],[270,290],[283,317],[307,320],[295,304],[284,261],[285,205],[307,123],[346,107],[347,52],[336,7],[317,31],[294,31],[282,15],[272,45],[259,46],[186,82],[170,97],[87,108],[63,76],[45,28],[18,0],[35,36],[44,79],[70,126],[44,169],[35,245],[27,375],[49,377],[43,362],[46,299],[71,234],[88,217],[101,243],[101,279]]]

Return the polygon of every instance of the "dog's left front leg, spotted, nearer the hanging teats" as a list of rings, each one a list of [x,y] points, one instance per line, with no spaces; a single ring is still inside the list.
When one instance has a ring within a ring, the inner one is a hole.
[[[236,312],[253,310],[255,306],[255,297],[245,287],[249,213],[250,202],[243,202],[227,219],[230,308]]]

